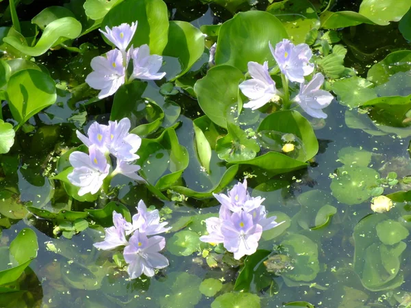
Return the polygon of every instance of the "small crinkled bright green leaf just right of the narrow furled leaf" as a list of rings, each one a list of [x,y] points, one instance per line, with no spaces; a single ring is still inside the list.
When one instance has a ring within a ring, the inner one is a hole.
[[[244,162],[256,157],[260,146],[256,140],[247,138],[240,127],[227,123],[228,134],[216,142],[216,153],[226,162]]]

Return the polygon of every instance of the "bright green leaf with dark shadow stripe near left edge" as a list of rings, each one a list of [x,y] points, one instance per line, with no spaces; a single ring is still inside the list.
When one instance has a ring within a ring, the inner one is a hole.
[[[14,120],[23,125],[56,99],[55,83],[39,70],[21,70],[10,77],[7,86],[9,106]]]

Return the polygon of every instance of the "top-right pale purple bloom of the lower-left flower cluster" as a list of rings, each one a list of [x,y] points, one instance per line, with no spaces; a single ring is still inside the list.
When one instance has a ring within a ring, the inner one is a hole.
[[[155,235],[171,229],[171,227],[164,228],[168,222],[160,222],[160,214],[158,209],[147,211],[147,207],[142,200],[138,202],[136,209],[138,210],[138,213],[133,215],[132,229],[127,230],[127,234],[130,234],[138,229],[146,235]]]

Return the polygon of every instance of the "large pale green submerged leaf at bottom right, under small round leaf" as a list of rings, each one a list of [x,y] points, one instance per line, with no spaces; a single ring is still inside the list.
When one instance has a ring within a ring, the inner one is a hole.
[[[377,292],[392,290],[403,283],[401,253],[406,249],[405,242],[386,246],[379,242],[375,226],[386,220],[383,214],[366,216],[354,227],[354,271],[366,289]]]

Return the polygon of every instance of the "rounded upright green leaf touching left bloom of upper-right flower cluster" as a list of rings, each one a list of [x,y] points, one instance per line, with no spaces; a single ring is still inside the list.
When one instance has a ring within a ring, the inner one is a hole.
[[[232,108],[238,107],[238,84],[243,79],[238,68],[221,65],[210,68],[206,77],[195,83],[199,105],[216,125],[227,128],[227,122],[234,123],[237,115]]]

